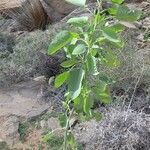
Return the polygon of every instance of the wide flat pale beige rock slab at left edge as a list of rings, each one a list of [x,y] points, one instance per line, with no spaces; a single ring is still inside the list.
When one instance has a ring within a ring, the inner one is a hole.
[[[15,115],[29,119],[41,115],[50,107],[50,103],[41,100],[44,86],[41,82],[29,81],[0,89],[0,117]]]

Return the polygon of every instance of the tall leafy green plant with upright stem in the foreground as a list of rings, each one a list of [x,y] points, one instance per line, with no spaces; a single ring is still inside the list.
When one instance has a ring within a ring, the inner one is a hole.
[[[81,7],[86,6],[86,0],[66,1]],[[108,87],[110,82],[107,77],[100,77],[97,66],[113,68],[120,65],[115,53],[115,49],[124,46],[120,34],[125,30],[125,26],[133,27],[132,23],[141,15],[138,10],[130,10],[124,0],[111,0],[110,7],[105,10],[101,9],[102,1],[97,3],[97,10],[90,18],[70,18],[67,24],[75,28],[74,32],[60,32],[48,49],[49,55],[54,55],[62,49],[66,54],[66,61],[61,63],[64,72],[56,76],[54,83],[56,88],[67,85],[63,102],[65,113],[59,117],[64,129],[63,150],[70,147],[77,149],[72,133],[73,116],[82,120],[99,120],[101,114],[92,109],[94,101],[99,100],[104,104],[112,102]],[[91,82],[93,77],[96,81]]]

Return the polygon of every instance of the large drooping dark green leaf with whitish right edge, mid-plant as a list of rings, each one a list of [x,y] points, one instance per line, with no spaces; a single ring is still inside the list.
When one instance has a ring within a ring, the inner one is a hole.
[[[68,90],[72,99],[75,99],[81,93],[82,80],[85,71],[81,68],[75,68],[70,72],[68,81]]]

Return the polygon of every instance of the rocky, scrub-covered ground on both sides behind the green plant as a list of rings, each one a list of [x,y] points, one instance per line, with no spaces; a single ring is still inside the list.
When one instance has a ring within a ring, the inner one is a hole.
[[[123,59],[125,68],[117,74],[111,72],[119,78],[112,90],[115,101],[98,108],[104,115],[100,122],[92,120],[74,127],[76,139],[85,150],[150,147],[150,3],[130,7],[142,9],[144,15],[137,29],[125,35],[129,49],[124,53],[128,56]],[[47,79],[53,80],[59,72],[63,54],[49,58],[45,50],[56,32],[64,28],[63,23],[45,31],[14,33],[9,29],[11,20],[0,20],[0,150],[58,149],[56,145],[61,144],[60,139],[60,143],[53,139],[55,144],[47,145],[42,137],[59,127],[55,117],[61,110],[64,89],[53,89]]]

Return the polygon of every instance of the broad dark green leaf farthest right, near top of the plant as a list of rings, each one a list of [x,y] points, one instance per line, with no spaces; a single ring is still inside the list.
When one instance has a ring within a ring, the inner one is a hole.
[[[140,19],[140,10],[130,10],[127,6],[119,6],[116,18],[120,21],[134,22]]]

